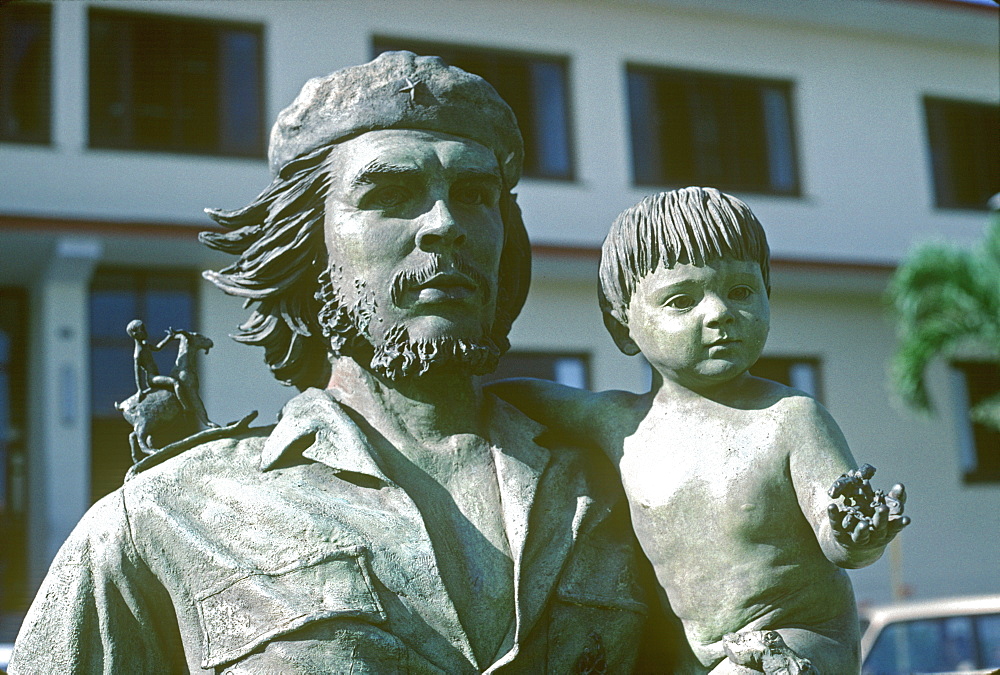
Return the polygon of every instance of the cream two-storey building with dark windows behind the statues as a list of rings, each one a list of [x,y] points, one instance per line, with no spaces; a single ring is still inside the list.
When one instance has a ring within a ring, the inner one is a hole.
[[[0,505],[17,544],[0,602],[23,608],[130,463],[111,407],[134,390],[125,321],[215,340],[201,380],[217,421],[257,409],[270,423],[292,395],[226,337],[245,312],[199,276],[228,264],[197,243],[202,210],[268,184],[266,133],[305,80],[397,47],[480,69],[516,99],[535,263],[505,372],[648,387],[604,331],[600,243],[652,192],[732,192],[774,258],[761,374],[815,392],[876,481],[911,495],[912,527],[852,573],[859,600],[997,592],[1000,440],[965,416],[975,355],[932,369],[936,417],[904,409],[884,300],[914,243],[972,246],[987,222],[997,28],[995,9],[943,0],[0,8]]]

